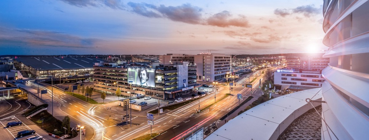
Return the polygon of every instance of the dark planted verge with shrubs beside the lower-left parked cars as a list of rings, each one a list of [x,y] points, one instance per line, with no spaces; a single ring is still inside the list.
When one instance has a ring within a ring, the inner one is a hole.
[[[44,129],[48,133],[55,134],[57,136],[64,136],[64,130],[62,130],[62,121],[56,119],[54,116],[49,114],[46,110],[39,112],[38,114],[32,116],[30,118],[32,122],[34,122],[41,129]],[[56,131],[54,131],[56,129]],[[71,130],[70,128],[69,130]],[[68,134],[72,136],[72,132],[68,131]],[[73,137],[76,137],[77,134],[73,133]],[[72,138],[72,137],[70,137]]]

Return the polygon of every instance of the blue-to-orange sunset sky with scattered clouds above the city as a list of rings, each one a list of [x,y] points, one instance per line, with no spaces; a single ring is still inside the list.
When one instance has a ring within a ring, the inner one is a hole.
[[[1,0],[0,55],[322,53],[321,0]]]

